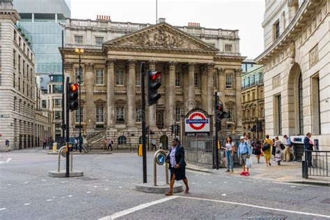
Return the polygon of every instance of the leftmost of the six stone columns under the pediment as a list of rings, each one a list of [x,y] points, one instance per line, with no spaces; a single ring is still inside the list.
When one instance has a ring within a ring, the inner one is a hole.
[[[115,60],[107,60],[107,125],[108,129],[115,127]]]

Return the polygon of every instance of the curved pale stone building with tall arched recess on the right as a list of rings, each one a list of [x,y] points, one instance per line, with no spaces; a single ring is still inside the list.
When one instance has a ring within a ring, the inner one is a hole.
[[[311,132],[330,150],[329,12],[329,0],[266,1],[265,52],[256,59],[265,72],[266,133],[288,134],[300,148]]]

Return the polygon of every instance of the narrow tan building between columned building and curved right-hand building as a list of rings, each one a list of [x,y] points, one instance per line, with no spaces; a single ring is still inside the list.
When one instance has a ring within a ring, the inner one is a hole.
[[[265,99],[262,65],[242,74],[242,118],[244,134],[265,139]]]

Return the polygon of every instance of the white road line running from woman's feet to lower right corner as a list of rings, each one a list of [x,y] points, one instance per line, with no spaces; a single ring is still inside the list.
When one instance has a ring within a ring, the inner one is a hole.
[[[221,200],[214,200],[214,199],[208,199],[208,198],[196,198],[196,197],[186,197],[186,196],[177,196],[177,198],[188,198],[188,199],[194,199],[194,200],[201,200],[201,201],[210,201],[210,202],[216,202],[216,203],[227,203],[231,205],[242,205],[242,206],[248,206],[248,207],[256,207],[258,209],[263,209],[263,210],[273,210],[273,211],[278,211],[278,212],[289,212],[289,213],[294,213],[294,214],[304,214],[304,215],[310,215],[314,217],[324,217],[324,218],[329,218],[330,215],[325,215],[325,214],[315,214],[315,213],[309,213],[309,212],[297,212],[297,211],[292,211],[292,210],[282,210],[278,208],[273,208],[273,207],[265,207],[265,206],[260,206],[260,205],[250,205],[246,203],[235,203],[235,202],[229,202],[229,201],[221,201]]]

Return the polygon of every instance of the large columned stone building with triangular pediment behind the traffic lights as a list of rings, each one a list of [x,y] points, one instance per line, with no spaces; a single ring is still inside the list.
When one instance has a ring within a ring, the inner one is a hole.
[[[141,62],[162,72],[162,98],[147,107],[146,120],[157,143],[171,138],[169,127],[194,107],[212,114],[214,92],[221,92],[225,109],[242,132],[241,64],[238,31],[134,24],[111,20],[67,19],[65,75],[77,81],[81,54],[81,121],[97,141],[115,146],[141,141]],[[78,134],[79,111],[71,114],[72,134]],[[226,125],[226,122],[223,122]],[[224,127],[223,126],[223,127]],[[224,129],[223,132],[228,130]]]

